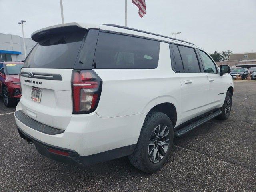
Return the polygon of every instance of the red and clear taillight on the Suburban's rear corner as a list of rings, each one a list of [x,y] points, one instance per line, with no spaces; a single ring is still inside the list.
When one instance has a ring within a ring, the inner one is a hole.
[[[93,70],[73,70],[73,114],[93,112],[100,100],[102,80]]]

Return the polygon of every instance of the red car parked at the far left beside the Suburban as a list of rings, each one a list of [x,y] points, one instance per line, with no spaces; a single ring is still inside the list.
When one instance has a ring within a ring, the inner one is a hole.
[[[20,69],[23,62],[0,62],[0,95],[6,107],[20,100]]]

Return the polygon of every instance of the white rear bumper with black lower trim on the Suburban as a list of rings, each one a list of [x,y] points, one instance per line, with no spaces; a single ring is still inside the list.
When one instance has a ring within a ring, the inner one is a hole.
[[[44,156],[68,164],[82,165],[132,154],[146,116],[146,114],[138,114],[101,118],[95,112],[73,115],[65,130],[61,130],[61,133],[49,134],[46,125],[29,116],[17,116],[20,110],[22,108],[19,103],[14,117],[19,132],[25,135],[22,138],[30,138],[38,152]],[[52,154],[48,148],[64,150],[72,155],[64,157]]]

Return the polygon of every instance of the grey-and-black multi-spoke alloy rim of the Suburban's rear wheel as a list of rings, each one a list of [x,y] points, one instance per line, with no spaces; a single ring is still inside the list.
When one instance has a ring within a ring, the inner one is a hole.
[[[152,163],[160,162],[169,147],[170,132],[165,124],[159,124],[154,128],[148,143],[148,158]]]

